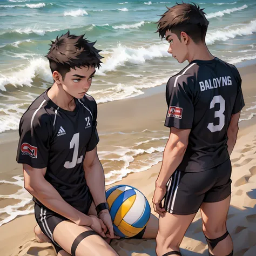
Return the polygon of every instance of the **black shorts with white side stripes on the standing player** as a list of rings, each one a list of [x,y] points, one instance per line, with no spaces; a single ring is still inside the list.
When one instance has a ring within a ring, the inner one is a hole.
[[[176,170],[167,183],[164,208],[167,212],[188,215],[201,204],[222,201],[231,194],[231,161],[202,172]]]

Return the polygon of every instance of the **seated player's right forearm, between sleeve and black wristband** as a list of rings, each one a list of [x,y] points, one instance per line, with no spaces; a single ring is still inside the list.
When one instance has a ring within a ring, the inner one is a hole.
[[[97,147],[92,151],[86,152],[83,167],[85,179],[95,205],[106,203],[105,176],[98,158]]]

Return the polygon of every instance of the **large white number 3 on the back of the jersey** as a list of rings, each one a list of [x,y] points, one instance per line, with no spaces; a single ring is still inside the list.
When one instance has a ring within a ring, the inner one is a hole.
[[[210,104],[210,109],[212,109],[216,103],[220,104],[220,109],[214,112],[214,118],[217,118],[217,117],[219,118],[219,124],[214,125],[213,123],[209,123],[207,128],[211,132],[221,131],[221,129],[223,129],[225,124],[225,116],[223,114],[225,111],[225,99],[221,95],[214,96]]]

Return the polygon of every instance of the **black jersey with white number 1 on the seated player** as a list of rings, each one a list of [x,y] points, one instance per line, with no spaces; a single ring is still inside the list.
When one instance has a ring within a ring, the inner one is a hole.
[[[48,89],[49,90],[49,89]],[[61,109],[46,90],[23,114],[19,123],[17,162],[46,169],[45,179],[60,196],[84,211],[89,191],[83,170],[86,151],[97,145],[97,104],[85,95],[75,99],[74,111]],[[33,200],[42,205],[36,198]]]

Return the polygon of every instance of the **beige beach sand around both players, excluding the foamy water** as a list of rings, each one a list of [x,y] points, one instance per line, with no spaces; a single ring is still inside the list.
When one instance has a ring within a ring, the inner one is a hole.
[[[240,72],[243,79],[244,95],[256,95],[253,79],[255,79],[255,65],[242,68]],[[154,127],[163,122],[166,112],[163,86],[157,93],[149,93],[143,97],[131,98],[119,102],[100,104],[98,106],[99,131],[132,130],[133,127]],[[152,100],[154,104],[152,104]],[[120,110],[125,110],[120,111]],[[111,113],[111,114],[109,114]],[[104,118],[105,116],[108,118]],[[115,118],[114,118],[115,117]],[[146,117],[146,118],[145,118]],[[117,120],[118,122],[115,122]],[[143,119],[143,122],[141,120]],[[232,197],[228,212],[227,227],[234,242],[234,256],[256,255],[256,118],[239,124],[237,144],[231,155],[232,160]],[[164,128],[163,128],[164,129]],[[4,164],[2,173],[11,178],[21,173],[21,166],[16,163],[17,149],[16,132],[9,132],[0,136],[0,150],[2,153],[0,163]],[[6,147],[8,143],[8,147]],[[9,157],[8,163],[5,161]],[[126,184],[137,187],[149,200],[153,214],[152,197],[154,182],[158,176],[161,163],[151,169],[139,173],[131,173],[116,184]],[[8,170],[8,171],[6,171]],[[157,216],[157,214],[155,214]],[[33,214],[18,217],[0,227],[0,255],[56,255],[50,243],[39,244],[35,240],[33,227],[36,220]],[[111,244],[120,256],[156,255],[156,242],[154,239],[120,239],[113,240]],[[132,249],[131,249],[132,248]],[[191,226],[188,228],[183,242],[181,253],[183,255],[208,255],[207,244],[201,230],[200,213],[197,213]]]

